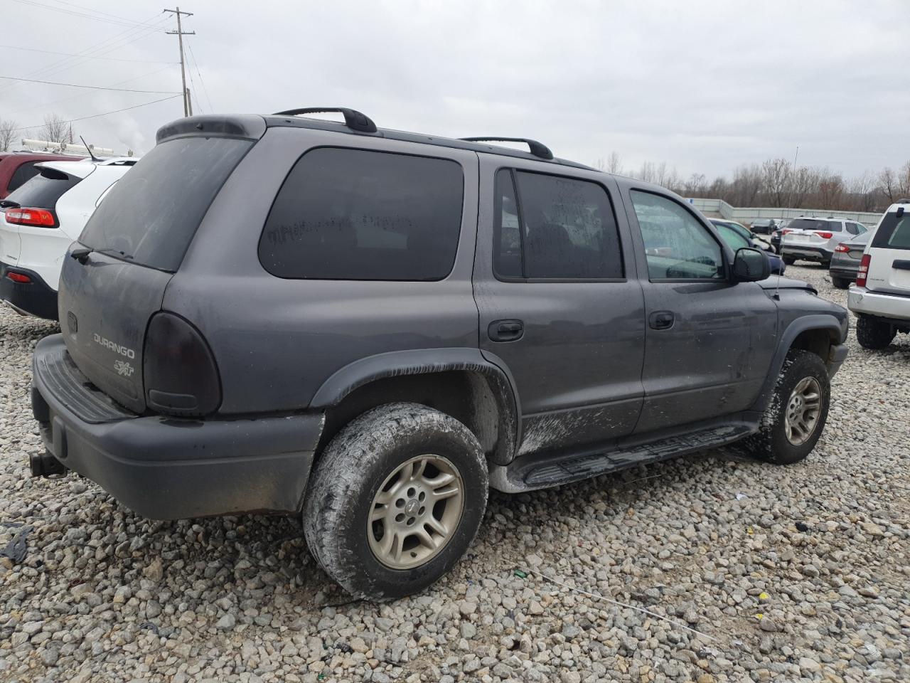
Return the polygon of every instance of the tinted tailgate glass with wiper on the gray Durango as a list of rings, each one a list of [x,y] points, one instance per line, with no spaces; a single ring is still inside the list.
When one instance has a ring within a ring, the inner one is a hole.
[[[234,138],[162,142],[116,183],[79,241],[140,265],[177,270],[212,199],[252,145]]]

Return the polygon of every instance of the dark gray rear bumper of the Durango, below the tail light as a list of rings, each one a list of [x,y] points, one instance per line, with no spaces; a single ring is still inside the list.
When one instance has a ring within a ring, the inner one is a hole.
[[[104,394],[86,395],[93,392],[59,334],[38,342],[33,371],[32,408],[48,452],[140,515],[300,509],[321,413],[182,420],[105,410]]]

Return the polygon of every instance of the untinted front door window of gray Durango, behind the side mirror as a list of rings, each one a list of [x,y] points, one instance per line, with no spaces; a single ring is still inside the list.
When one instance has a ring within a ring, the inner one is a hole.
[[[672,199],[632,190],[651,280],[723,280],[721,245]]]

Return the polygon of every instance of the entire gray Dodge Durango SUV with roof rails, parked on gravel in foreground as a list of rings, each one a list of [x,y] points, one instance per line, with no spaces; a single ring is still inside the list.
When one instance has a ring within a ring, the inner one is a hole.
[[[35,348],[33,474],[160,519],[302,515],[389,599],[458,561],[490,486],[813,449],[846,312],[761,251],[533,140],[317,111],[180,119],[111,190]]]

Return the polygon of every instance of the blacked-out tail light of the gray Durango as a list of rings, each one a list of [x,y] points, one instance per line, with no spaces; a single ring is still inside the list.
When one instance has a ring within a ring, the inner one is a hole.
[[[221,403],[215,356],[202,334],[174,313],[161,311],[149,321],[142,372],[152,410],[198,416]]]

